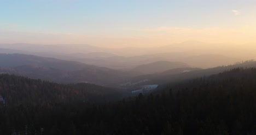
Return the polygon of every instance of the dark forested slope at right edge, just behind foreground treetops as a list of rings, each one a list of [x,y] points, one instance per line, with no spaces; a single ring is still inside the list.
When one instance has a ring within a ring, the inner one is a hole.
[[[237,81],[237,83],[234,83]],[[242,84],[246,83],[247,84]],[[183,81],[178,81],[180,83],[166,83],[161,85],[161,87],[172,87],[175,91],[179,91],[181,88],[188,89],[189,87],[197,87],[198,89],[204,85],[222,85],[221,87],[231,85],[235,88],[236,85],[246,86],[248,83],[253,84],[256,81],[256,68],[232,68],[228,69],[222,73],[213,74],[208,77],[199,77],[194,79],[187,79]],[[233,84],[234,83],[234,84]],[[229,87],[231,87],[229,86]],[[252,85],[254,86],[254,85]],[[256,85],[255,85],[256,86]]]

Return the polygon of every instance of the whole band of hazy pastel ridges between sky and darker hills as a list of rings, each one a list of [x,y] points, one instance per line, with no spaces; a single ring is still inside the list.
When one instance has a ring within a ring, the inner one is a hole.
[[[237,49],[232,45],[195,41],[154,48],[102,48],[92,45],[40,44],[0,44],[0,48],[14,49],[6,50],[13,53],[79,61],[122,71],[156,61],[179,61],[193,67],[211,68],[256,58],[255,53],[252,52],[253,46],[250,49]],[[25,48],[27,49],[24,50]]]

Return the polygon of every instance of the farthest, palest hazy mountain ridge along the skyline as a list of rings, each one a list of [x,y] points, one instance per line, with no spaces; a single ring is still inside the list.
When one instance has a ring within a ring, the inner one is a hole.
[[[242,48],[233,44],[209,44],[197,41],[188,41],[183,43],[174,43],[165,46],[152,48],[104,48],[102,46],[93,46],[87,44],[69,44],[69,45],[42,45],[42,44],[0,44],[0,48],[17,49],[34,52],[58,52],[58,53],[89,53],[89,52],[108,52],[119,56],[141,56],[162,54],[170,52],[185,52],[189,55],[216,54],[226,55],[229,57],[240,57],[248,60],[255,57],[255,44],[246,44],[249,48]],[[232,52],[236,52],[235,54]]]

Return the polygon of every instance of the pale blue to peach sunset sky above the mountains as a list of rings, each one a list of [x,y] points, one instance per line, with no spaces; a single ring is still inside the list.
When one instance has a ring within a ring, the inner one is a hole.
[[[0,43],[256,43],[256,0],[0,0]]]

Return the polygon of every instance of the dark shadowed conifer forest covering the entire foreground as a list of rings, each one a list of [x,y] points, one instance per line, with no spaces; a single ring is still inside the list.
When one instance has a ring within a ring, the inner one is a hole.
[[[76,85],[6,74],[0,80],[0,134],[256,134],[255,68],[106,102],[85,102],[95,93]]]

